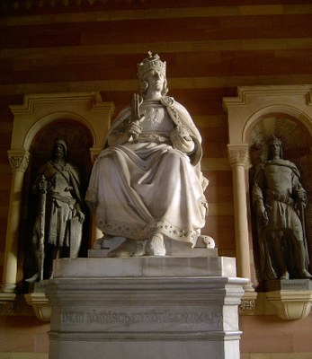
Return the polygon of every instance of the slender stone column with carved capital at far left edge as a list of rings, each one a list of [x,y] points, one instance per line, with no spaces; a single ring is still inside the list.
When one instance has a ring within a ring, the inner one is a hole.
[[[8,151],[8,156],[13,173],[7,219],[4,251],[4,277],[0,291],[1,293],[14,293],[16,287],[22,185],[24,173],[30,161],[30,153],[25,150]],[[3,295],[1,297],[3,297]]]

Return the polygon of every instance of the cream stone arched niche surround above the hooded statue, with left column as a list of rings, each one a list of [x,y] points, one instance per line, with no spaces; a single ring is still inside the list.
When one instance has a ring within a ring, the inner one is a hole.
[[[3,301],[14,300],[17,280],[22,277],[18,274],[21,259],[18,258],[18,247],[22,219],[26,221],[27,218],[26,210],[22,207],[22,195],[24,188],[29,189],[31,186],[31,176],[35,172],[31,171],[31,167],[36,167],[40,162],[39,158],[33,158],[34,153],[45,157],[46,151],[50,151],[49,142],[55,136],[67,136],[69,146],[75,149],[74,153],[84,151],[86,177],[91,162],[103,147],[103,138],[111,125],[114,105],[102,101],[99,92],[40,93],[25,95],[23,104],[11,106],[11,110],[14,119],[8,156],[13,173],[0,293]],[[84,145],[79,147],[80,142]],[[78,157],[76,161],[82,165],[81,155]],[[25,175],[26,171],[28,175]]]

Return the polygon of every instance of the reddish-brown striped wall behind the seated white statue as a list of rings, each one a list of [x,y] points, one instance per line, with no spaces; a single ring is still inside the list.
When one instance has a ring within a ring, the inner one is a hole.
[[[3,1],[0,7],[0,272],[11,181],[9,106],[21,104],[26,93],[97,91],[103,101],[114,102],[118,113],[137,91],[136,66],[148,50],[166,60],[169,95],[189,109],[201,130],[202,168],[210,182],[210,215],[203,232],[216,240],[220,255],[235,256],[222,98],[236,96],[241,85],[312,83],[310,1],[39,3],[27,7],[22,1]],[[248,331],[245,323],[248,319]],[[257,326],[274,336],[270,319],[258,320]],[[299,325],[294,328],[300,333]],[[255,339],[244,335],[243,351],[259,352],[245,340]],[[270,352],[281,352],[277,346],[273,341]],[[290,350],[300,348],[287,346]],[[33,351],[40,350],[33,346]],[[312,346],[305,351],[312,352]]]

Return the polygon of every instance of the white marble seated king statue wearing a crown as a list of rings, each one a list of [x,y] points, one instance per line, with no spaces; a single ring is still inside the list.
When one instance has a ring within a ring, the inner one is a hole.
[[[109,257],[165,256],[164,239],[193,248],[208,212],[201,136],[166,96],[165,62],[149,52],[138,80],[140,95],[113,121],[85,197],[103,238],[126,238]]]

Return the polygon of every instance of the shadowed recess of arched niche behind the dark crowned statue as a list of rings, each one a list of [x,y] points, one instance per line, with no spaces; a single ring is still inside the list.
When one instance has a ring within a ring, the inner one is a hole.
[[[285,107],[287,109],[287,107]],[[290,115],[291,113],[291,115]],[[308,242],[309,258],[312,254],[312,136],[306,127],[307,121],[294,117],[294,113],[271,112],[260,116],[254,121],[254,126],[246,132],[246,140],[249,144],[249,158],[251,167],[249,170],[249,183],[252,187],[254,171],[260,162],[268,158],[268,143],[272,135],[281,139],[283,158],[296,164],[301,175],[301,183],[308,193],[308,205],[305,208],[305,230]],[[301,114],[302,115],[302,114]],[[301,116],[301,119],[304,116]],[[307,118],[306,118],[307,119]],[[258,233],[254,208],[251,206],[251,231],[254,247],[254,267],[256,274],[259,273],[259,249]],[[311,266],[309,268],[311,270]],[[257,276],[256,279],[259,279]],[[258,291],[264,290],[263,284],[258,285]]]

